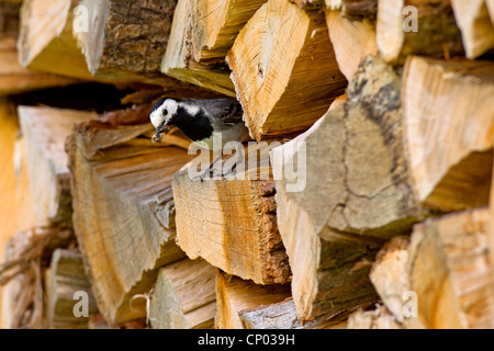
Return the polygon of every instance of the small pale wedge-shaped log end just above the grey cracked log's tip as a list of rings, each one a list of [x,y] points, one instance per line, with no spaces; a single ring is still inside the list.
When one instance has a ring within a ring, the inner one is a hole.
[[[344,18],[339,11],[326,11],[326,23],[338,67],[350,81],[360,61],[368,55],[378,54],[374,25],[367,19]]]

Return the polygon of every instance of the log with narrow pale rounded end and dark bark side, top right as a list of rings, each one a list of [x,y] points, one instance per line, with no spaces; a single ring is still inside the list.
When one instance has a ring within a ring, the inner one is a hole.
[[[439,58],[464,55],[450,0],[378,3],[377,43],[386,63],[401,64],[411,54]]]

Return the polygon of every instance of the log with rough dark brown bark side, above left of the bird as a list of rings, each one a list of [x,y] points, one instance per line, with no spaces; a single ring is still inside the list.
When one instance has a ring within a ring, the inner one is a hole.
[[[75,27],[96,77],[159,82],[176,0],[85,0],[89,31]]]

